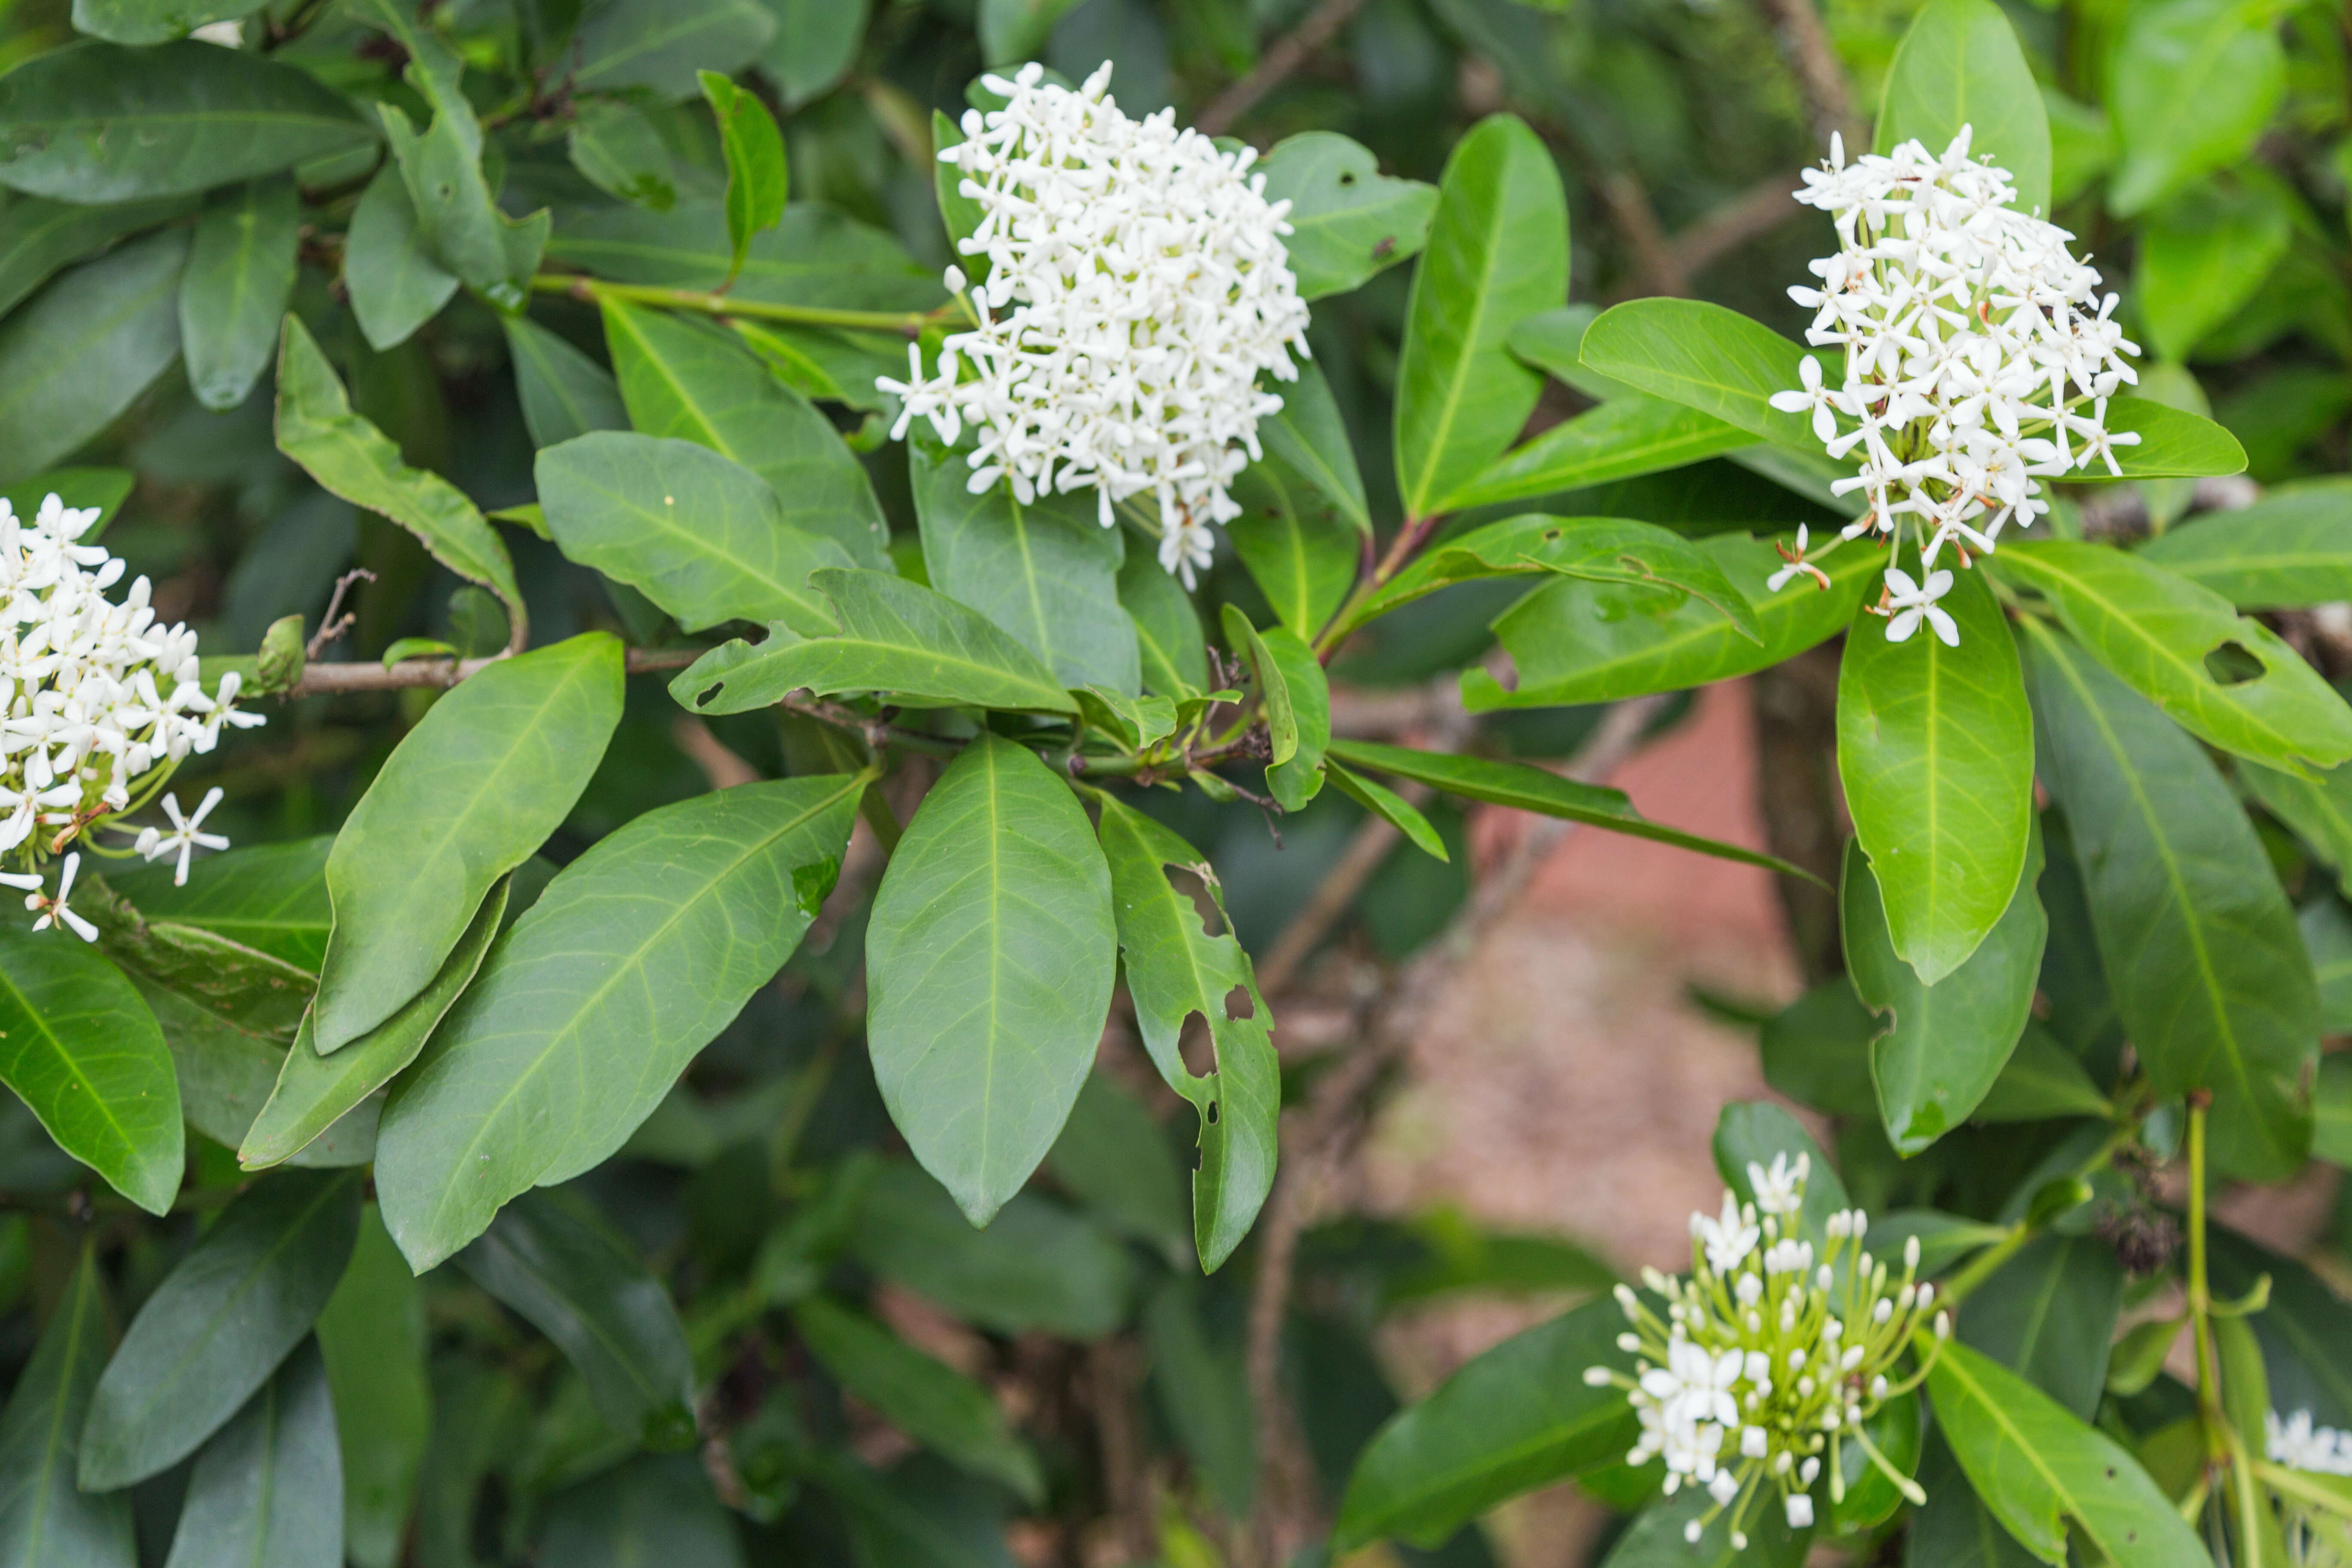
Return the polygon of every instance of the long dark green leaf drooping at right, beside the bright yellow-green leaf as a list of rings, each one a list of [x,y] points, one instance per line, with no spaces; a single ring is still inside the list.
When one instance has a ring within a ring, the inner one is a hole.
[[[2223,1171],[2284,1180],[2310,1143],[2319,992],[2279,879],[2194,741],[2042,621],[2023,628],[2042,780],[2140,1067],[2159,1095],[2216,1091]]]

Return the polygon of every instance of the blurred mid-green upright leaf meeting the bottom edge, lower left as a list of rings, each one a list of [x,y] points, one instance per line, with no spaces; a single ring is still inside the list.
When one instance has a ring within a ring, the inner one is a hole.
[[[343,1450],[343,1549],[360,1568],[395,1568],[433,1427],[426,1302],[369,1204],[350,1267],[318,1314],[318,1349]]]

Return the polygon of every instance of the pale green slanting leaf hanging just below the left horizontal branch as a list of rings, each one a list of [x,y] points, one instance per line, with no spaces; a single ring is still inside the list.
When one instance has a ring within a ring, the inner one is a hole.
[[[433,980],[492,884],[572,813],[619,722],[621,644],[586,632],[487,665],[400,741],[327,856],[320,1056]]]

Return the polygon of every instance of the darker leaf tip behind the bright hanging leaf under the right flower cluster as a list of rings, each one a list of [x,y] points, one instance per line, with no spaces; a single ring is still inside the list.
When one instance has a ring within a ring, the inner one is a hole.
[[[1882,884],[1860,844],[1846,844],[1846,971],[1863,1006],[1884,1018],[1870,1046],[1870,1077],[1886,1138],[1903,1157],[1922,1152],[1976,1112],[2025,1030],[2049,936],[2042,898],[2034,896],[2039,877],[2042,837],[2034,835],[1999,922],[1976,952],[1926,985],[1886,929]]]

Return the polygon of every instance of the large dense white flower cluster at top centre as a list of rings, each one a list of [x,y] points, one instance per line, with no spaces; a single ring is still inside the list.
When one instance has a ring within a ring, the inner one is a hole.
[[[910,346],[908,378],[877,381],[903,400],[891,437],[924,416],[953,444],[971,423],[974,494],[1091,484],[1103,527],[1115,501],[1152,491],[1160,564],[1190,585],[1209,524],[1240,515],[1228,487],[1258,456],[1258,421],[1282,407],[1258,376],[1296,381],[1289,350],[1308,353],[1289,202],[1249,179],[1254,148],[1221,153],[1174,110],[1120,113],[1108,63],[1077,92],[1040,66],[981,80],[1004,108],[967,110],[967,141],[941,153],[981,205],[960,242],[988,256],[978,327],[946,341],[936,376]],[[948,289],[964,292],[957,268]]]

